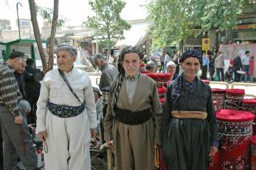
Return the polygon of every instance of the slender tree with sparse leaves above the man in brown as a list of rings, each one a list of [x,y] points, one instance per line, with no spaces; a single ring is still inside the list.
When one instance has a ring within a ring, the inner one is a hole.
[[[103,38],[102,41],[108,48],[108,59],[111,46],[114,45],[116,40],[124,39],[124,30],[131,28],[131,25],[120,17],[125,2],[120,0],[95,0],[89,1],[89,4],[96,16],[89,16],[83,24],[94,29],[94,35],[100,35]]]

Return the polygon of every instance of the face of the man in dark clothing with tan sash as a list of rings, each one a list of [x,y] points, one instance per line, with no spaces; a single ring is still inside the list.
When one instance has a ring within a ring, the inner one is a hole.
[[[181,68],[184,70],[184,76],[194,78],[200,70],[200,62],[195,57],[188,57],[181,63]]]

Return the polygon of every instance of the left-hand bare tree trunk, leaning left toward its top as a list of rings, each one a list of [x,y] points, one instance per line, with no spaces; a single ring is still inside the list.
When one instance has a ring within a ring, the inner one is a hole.
[[[43,70],[46,71],[47,69],[46,56],[44,54],[44,48],[41,42],[41,35],[40,35],[39,26],[38,26],[38,20],[36,18],[35,1],[29,0],[29,4],[30,4],[30,15],[31,15],[31,22],[33,26],[34,35],[35,35],[35,41],[38,45],[38,52],[41,57]]]

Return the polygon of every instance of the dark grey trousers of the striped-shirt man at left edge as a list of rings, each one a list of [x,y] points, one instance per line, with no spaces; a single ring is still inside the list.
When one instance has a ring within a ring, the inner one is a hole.
[[[37,169],[32,137],[27,127],[27,120],[24,115],[22,116],[23,124],[15,124],[14,117],[8,108],[0,106],[1,133],[4,139],[4,170],[15,169],[18,157],[26,170]]]

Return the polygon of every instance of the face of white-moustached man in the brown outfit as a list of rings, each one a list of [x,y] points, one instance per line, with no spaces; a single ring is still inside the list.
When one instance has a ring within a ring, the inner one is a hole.
[[[125,54],[123,57],[122,67],[125,69],[125,73],[131,77],[136,76],[141,64],[142,60],[139,59],[139,55],[136,53]]]

